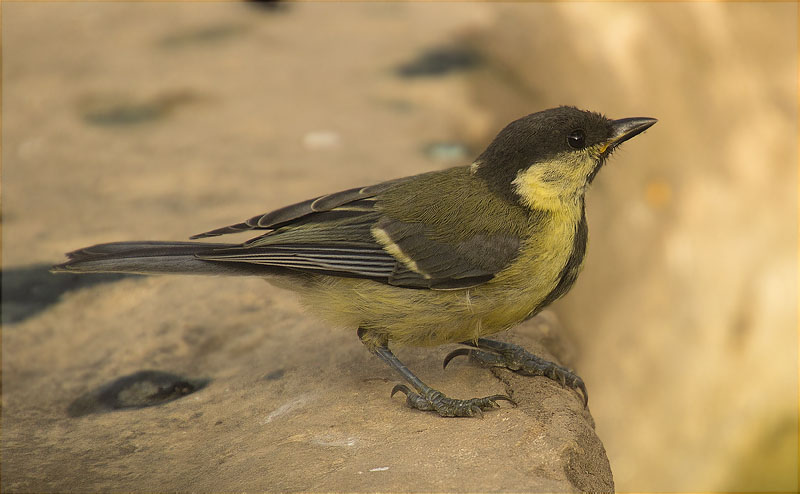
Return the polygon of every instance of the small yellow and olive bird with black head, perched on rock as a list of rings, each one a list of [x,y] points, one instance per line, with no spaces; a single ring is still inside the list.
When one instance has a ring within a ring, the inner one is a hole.
[[[469,166],[329,194],[211,230],[242,244],[115,242],[71,252],[54,271],[263,276],[300,294],[414,388],[406,402],[473,416],[504,395],[453,399],[417,378],[389,343],[462,343],[454,356],[542,375],[583,393],[570,370],[485,339],[541,311],[575,282],[586,251],[584,194],[622,142],[656,123],[562,106],[511,122]]]

